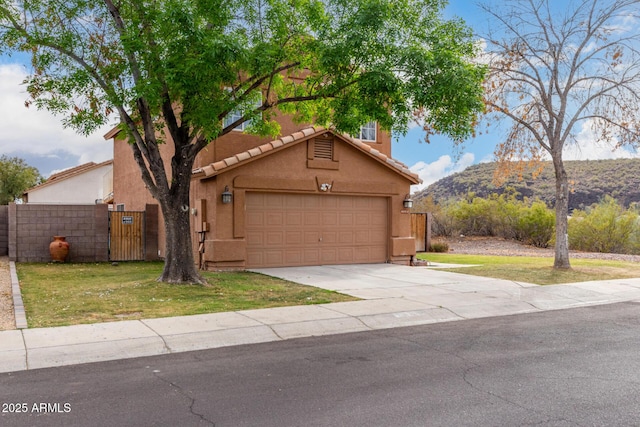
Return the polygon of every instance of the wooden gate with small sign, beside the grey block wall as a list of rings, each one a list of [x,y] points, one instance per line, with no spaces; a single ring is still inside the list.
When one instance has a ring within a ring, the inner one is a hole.
[[[144,261],[144,212],[109,212],[109,260]]]

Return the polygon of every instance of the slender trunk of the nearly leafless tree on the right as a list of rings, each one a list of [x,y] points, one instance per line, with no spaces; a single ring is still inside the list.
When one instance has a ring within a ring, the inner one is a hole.
[[[553,268],[569,269],[569,180],[562,162],[562,154],[553,157],[553,167],[556,174],[556,251]]]

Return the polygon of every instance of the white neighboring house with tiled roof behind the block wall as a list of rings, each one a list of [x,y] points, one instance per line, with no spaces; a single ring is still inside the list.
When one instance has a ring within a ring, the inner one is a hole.
[[[113,160],[85,163],[53,174],[26,190],[24,203],[88,205],[113,201]]]

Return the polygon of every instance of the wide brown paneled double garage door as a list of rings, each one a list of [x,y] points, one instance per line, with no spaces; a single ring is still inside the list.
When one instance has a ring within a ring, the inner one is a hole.
[[[247,193],[249,267],[387,261],[387,199]]]

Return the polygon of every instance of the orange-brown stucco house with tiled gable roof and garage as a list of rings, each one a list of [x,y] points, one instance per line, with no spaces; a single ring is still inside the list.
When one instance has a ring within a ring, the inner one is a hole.
[[[390,157],[389,135],[375,123],[363,127],[366,140],[282,124],[288,136],[269,141],[237,130],[198,156],[191,189],[195,259],[207,269],[409,264],[415,242],[403,201],[420,179]],[[114,203],[143,210],[153,199],[119,135],[117,129],[105,135],[114,139]]]

